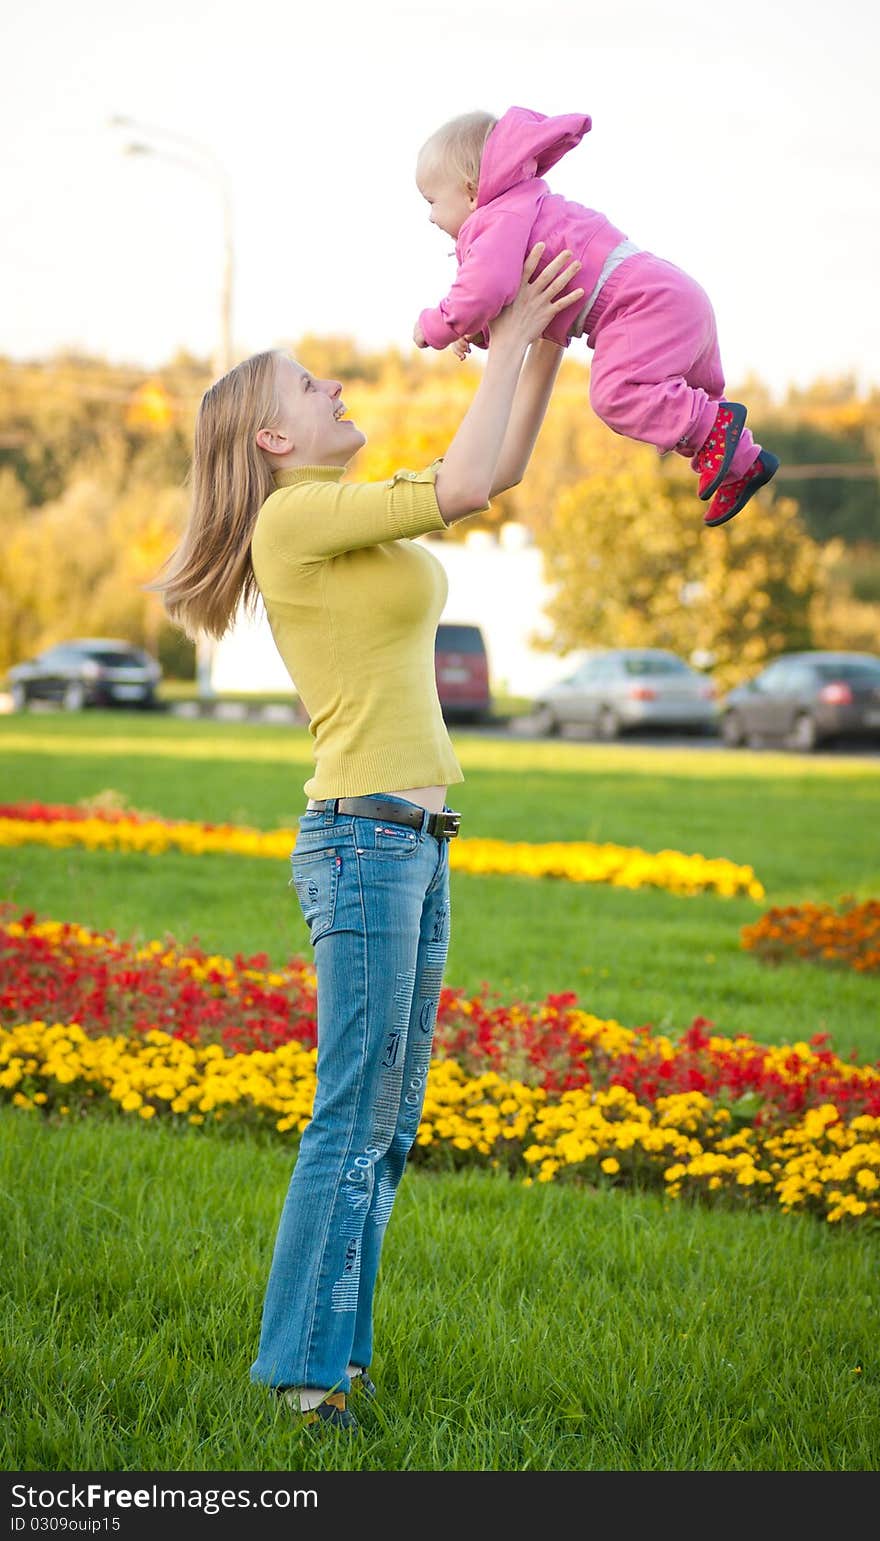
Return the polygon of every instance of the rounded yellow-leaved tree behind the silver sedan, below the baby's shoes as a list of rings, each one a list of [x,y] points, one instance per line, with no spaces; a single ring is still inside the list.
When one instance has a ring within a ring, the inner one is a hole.
[[[626,465],[558,498],[538,539],[555,595],[550,646],[669,647],[731,686],[766,658],[809,647],[811,607],[838,552],[803,530],[791,498],[758,495],[709,530],[694,473],[629,445]]]

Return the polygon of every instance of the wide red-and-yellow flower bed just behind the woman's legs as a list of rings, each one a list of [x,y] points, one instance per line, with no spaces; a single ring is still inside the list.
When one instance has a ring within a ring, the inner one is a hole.
[[[308,1122],[314,980],[299,960],[136,948],[8,912],[0,986],[0,1096],[22,1110],[294,1139]],[[502,1006],[444,991],[413,1160],[877,1220],[880,1066],[825,1037],[764,1048],[710,1028],[670,1039],[570,995]]]

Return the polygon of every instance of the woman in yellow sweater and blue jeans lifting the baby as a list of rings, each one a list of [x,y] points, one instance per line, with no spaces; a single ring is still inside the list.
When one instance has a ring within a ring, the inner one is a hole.
[[[419,1125],[448,946],[448,840],[462,780],[435,683],[441,564],[413,536],[489,507],[529,462],[563,350],[539,341],[579,264],[564,251],[492,324],[447,453],[385,482],[341,478],[365,444],[338,381],[285,354],[245,359],[205,394],[193,507],[157,581],[190,635],[220,636],[262,596],[310,715],[293,881],[317,972],[317,1088],[274,1244],[251,1379],[304,1422],[354,1430],[375,1393],[373,1293]]]

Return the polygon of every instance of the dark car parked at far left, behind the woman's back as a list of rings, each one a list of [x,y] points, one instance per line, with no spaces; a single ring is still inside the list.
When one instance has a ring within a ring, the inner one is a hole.
[[[57,701],[68,712],[85,706],[154,706],[162,667],[143,647],[113,636],[83,636],[48,647],[6,673],[12,709]]]

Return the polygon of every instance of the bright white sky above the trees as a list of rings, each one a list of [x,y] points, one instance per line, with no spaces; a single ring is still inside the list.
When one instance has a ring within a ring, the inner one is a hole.
[[[865,0],[23,0],[0,32],[0,353],[216,347],[217,188],[123,156],[113,114],[225,168],[237,356],[305,331],[408,347],[453,276],[418,146],[518,105],[592,116],[550,186],[704,285],[729,382],[878,385],[878,42]]]

